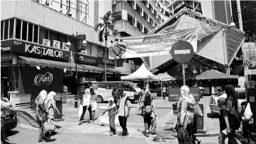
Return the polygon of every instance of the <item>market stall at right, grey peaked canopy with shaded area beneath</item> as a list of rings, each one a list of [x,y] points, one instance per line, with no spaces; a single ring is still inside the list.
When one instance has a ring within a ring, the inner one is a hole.
[[[201,83],[198,83],[198,85],[202,86],[206,90],[206,93],[209,92],[210,95],[218,94],[217,89],[218,88],[221,89],[225,85],[237,84],[238,78],[239,78],[239,76],[228,75],[228,74],[221,73],[221,72],[213,70],[213,69],[207,70],[204,73],[202,73],[201,75],[196,76],[196,80],[201,80]],[[205,81],[207,83],[206,87],[204,87],[204,85],[202,85],[202,83]],[[212,88],[212,86],[215,86],[215,87]],[[213,90],[216,90],[216,92],[215,91],[213,92]]]

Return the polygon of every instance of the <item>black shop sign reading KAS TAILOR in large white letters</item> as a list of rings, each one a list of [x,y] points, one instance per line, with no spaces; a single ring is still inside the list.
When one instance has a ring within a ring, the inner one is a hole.
[[[11,52],[23,54],[26,56],[41,57],[44,59],[53,59],[59,61],[69,61],[70,52],[62,49],[54,49],[52,47],[45,47],[40,44],[30,42],[22,42],[12,40]]]

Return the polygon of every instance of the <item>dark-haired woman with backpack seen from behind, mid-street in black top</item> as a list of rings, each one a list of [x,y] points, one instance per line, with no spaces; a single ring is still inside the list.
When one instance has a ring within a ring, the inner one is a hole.
[[[153,116],[155,116],[155,105],[152,103],[152,98],[150,94],[145,95],[144,100],[145,100],[144,101],[145,114],[143,116],[143,119],[144,119],[146,137],[148,137],[148,133],[150,132],[151,121],[153,119]],[[148,112],[148,109],[151,109],[150,112]]]

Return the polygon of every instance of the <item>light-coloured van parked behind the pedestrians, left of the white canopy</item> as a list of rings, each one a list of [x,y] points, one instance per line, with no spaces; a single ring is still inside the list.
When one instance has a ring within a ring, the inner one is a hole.
[[[83,82],[80,82],[82,84]],[[88,82],[84,82],[88,83]],[[141,89],[137,85],[126,81],[109,81],[109,82],[91,82],[94,92],[97,94],[97,102],[108,101],[112,97],[113,88],[123,88],[123,92],[130,97],[131,102],[135,102],[140,98]]]

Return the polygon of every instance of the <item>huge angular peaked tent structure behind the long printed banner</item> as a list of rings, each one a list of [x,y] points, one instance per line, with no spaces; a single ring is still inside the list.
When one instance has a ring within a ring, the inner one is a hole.
[[[162,32],[171,32],[187,28],[197,28],[198,45],[197,52],[194,52],[193,59],[198,63],[217,69],[230,66],[235,54],[245,40],[245,33],[241,30],[230,30],[228,25],[211,18],[201,16],[193,11],[181,10],[154,28],[148,35]],[[154,73],[164,73],[170,66],[177,65],[172,60],[171,54],[163,56],[151,56],[150,59],[142,58],[145,64],[150,64]]]

